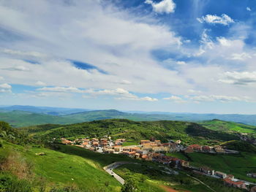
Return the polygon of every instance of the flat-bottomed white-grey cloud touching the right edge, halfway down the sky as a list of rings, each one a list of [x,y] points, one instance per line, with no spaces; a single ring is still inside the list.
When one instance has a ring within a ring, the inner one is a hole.
[[[248,85],[256,82],[256,72],[225,72],[224,77],[219,81],[234,85]]]

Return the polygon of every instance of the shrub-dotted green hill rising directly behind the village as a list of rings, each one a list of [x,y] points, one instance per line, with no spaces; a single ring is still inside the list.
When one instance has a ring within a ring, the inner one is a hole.
[[[129,141],[139,141],[155,137],[166,142],[168,139],[181,139],[186,144],[208,143],[238,139],[233,134],[212,131],[197,123],[183,121],[132,121],[124,119],[94,120],[72,125],[43,125],[24,128],[30,134],[44,139],[104,137],[110,135],[113,139],[126,138]]]

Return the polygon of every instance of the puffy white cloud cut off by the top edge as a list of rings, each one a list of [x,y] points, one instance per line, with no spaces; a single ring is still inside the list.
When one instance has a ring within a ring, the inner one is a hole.
[[[145,3],[151,4],[154,12],[157,13],[171,13],[174,12],[176,8],[176,4],[173,2],[173,0],[162,0],[158,3],[155,3],[152,0],[146,0]]]

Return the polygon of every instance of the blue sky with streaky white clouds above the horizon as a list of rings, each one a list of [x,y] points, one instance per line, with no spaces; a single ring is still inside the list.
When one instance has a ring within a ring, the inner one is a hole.
[[[0,0],[0,105],[256,114],[255,0]]]

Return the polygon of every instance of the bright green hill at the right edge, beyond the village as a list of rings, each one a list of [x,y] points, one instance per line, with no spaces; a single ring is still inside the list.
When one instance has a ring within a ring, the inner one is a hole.
[[[249,125],[234,123],[230,121],[208,120],[200,124],[206,128],[210,128],[211,130],[215,130],[215,131],[256,134],[256,126],[249,126]]]

